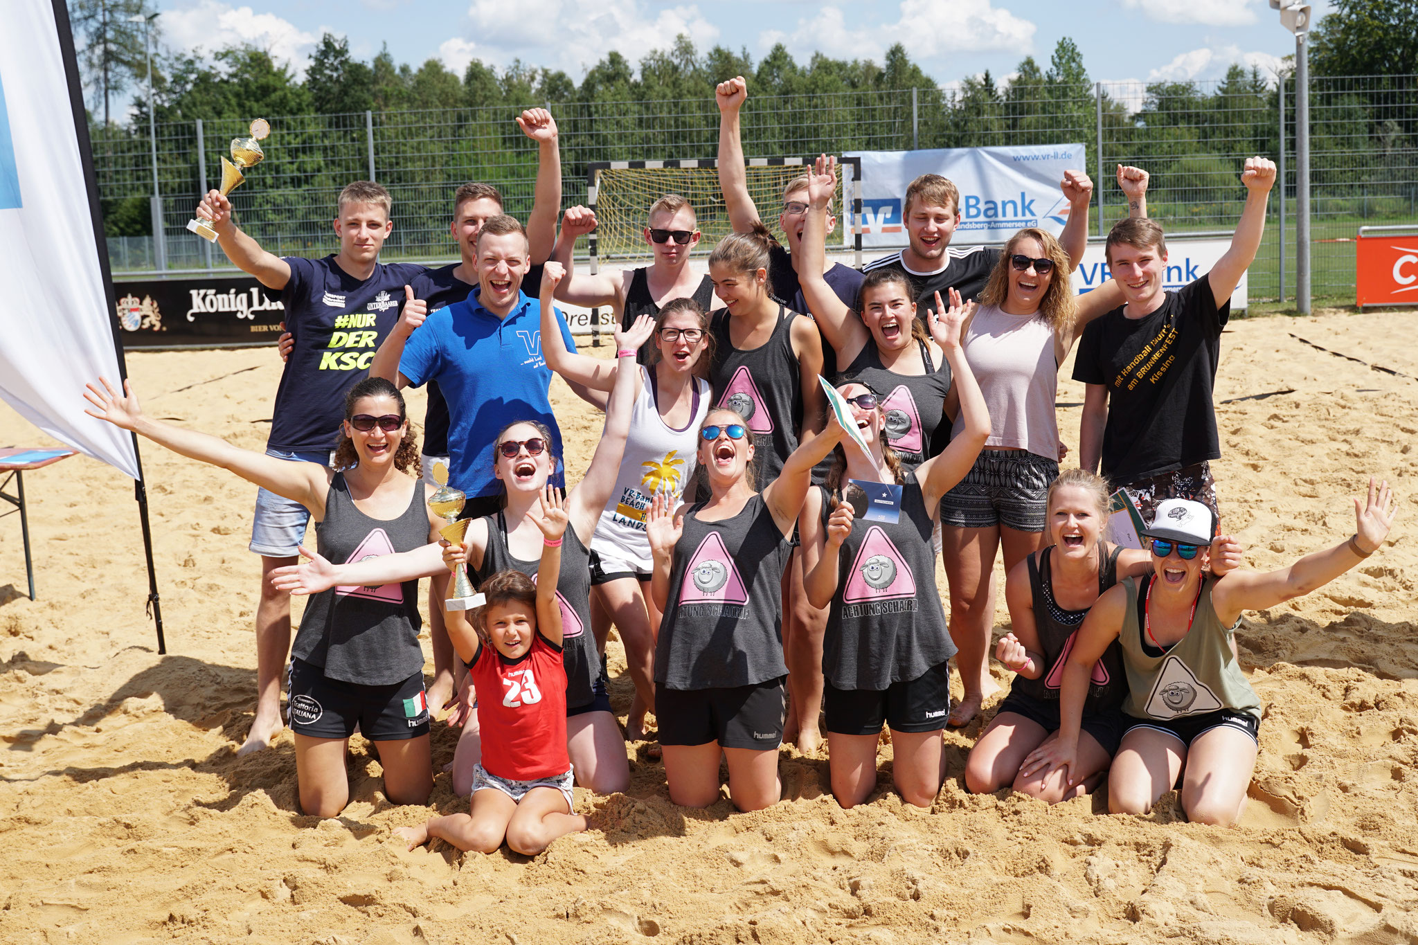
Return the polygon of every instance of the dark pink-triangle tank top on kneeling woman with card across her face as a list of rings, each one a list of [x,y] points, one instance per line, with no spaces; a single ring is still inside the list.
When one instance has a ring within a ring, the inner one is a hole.
[[[831,493],[820,489],[825,526]],[[837,592],[822,639],[822,674],[837,689],[882,691],[920,679],[956,655],[936,589],[933,530],[913,472],[902,486],[898,521],[852,521],[838,551]]]

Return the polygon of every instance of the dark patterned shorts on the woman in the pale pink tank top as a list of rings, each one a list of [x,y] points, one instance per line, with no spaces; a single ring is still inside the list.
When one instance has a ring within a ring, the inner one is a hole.
[[[1025,449],[981,449],[974,466],[940,500],[940,524],[956,528],[1007,526],[1044,531],[1054,459]]]

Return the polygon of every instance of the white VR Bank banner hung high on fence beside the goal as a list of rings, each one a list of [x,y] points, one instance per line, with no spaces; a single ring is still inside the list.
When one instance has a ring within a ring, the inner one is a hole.
[[[855,152],[855,156],[862,159],[864,248],[906,245],[902,200],[920,174],[940,174],[960,188],[960,224],[951,245],[1004,242],[1021,227],[1038,227],[1056,237],[1068,222],[1068,201],[1059,193],[1059,181],[1065,170],[1083,170],[1082,145]]]

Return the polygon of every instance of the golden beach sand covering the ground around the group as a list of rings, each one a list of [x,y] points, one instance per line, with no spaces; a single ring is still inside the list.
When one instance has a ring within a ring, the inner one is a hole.
[[[1144,817],[1107,816],[1102,791],[1052,809],[968,795],[964,757],[995,697],[946,735],[930,810],[891,793],[889,745],[881,789],[855,810],[827,793],[825,754],[783,748],[786,800],[739,815],[727,799],[671,805],[661,765],[634,744],[631,791],[577,791],[593,829],[535,860],[407,853],[391,827],[467,809],[448,775],[430,808],[391,806],[356,737],[353,800],[318,820],[296,806],[289,732],[234,755],[255,679],[254,487],[145,446],[169,647],[157,656],[132,483],[88,458],[31,473],[37,602],[23,596],[17,517],[0,524],[0,939],[1418,942],[1415,339],[1418,313],[1394,312],[1244,320],[1224,339],[1218,400],[1290,391],[1217,408],[1225,524],[1252,567],[1347,537],[1368,472],[1402,506],[1370,561],[1246,615],[1241,659],[1268,708],[1251,802],[1229,830],[1185,823],[1176,795]],[[129,367],[150,414],[262,446],[272,350],[133,354]],[[576,475],[600,419],[554,392]],[[1081,385],[1064,383],[1059,401],[1076,448]],[[9,408],[0,421],[10,443],[45,443]],[[624,713],[631,686],[611,652]],[[435,725],[438,765],[455,735]]]

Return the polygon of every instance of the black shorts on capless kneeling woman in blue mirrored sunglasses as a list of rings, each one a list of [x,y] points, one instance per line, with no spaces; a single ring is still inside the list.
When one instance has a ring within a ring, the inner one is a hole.
[[[655,686],[661,745],[708,745],[769,751],[783,741],[787,676],[732,689]]]

